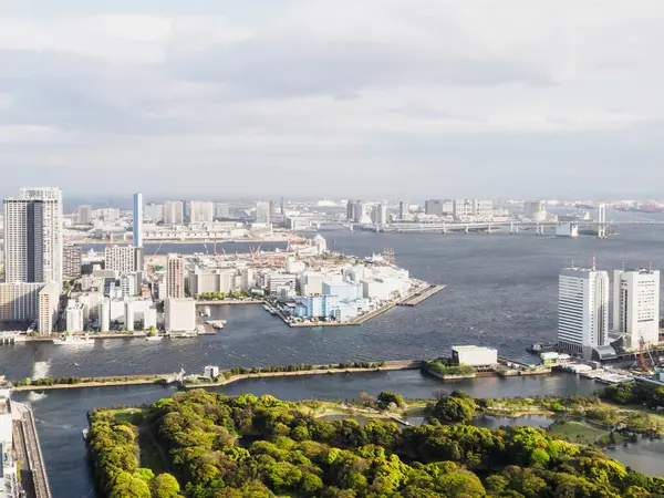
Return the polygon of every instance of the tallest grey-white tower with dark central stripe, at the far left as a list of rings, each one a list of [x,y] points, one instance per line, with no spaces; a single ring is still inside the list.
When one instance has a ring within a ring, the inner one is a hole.
[[[62,190],[22,188],[4,199],[7,282],[62,286]]]

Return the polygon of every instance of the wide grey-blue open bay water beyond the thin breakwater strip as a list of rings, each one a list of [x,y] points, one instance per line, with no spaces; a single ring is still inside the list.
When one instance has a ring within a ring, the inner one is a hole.
[[[454,344],[498,347],[525,356],[537,341],[556,340],[557,282],[573,259],[601,268],[664,268],[664,227],[621,227],[606,240],[532,234],[398,235],[332,231],[336,249],[366,256],[390,246],[413,276],[448,287],[417,308],[396,308],[361,326],[319,331],[289,329],[261,307],[220,307],[227,328],[212,338],[148,343],[108,340],[85,351],[51,344],[0,347],[0,374],[9,378],[49,375],[113,375],[201,371],[220,366],[423,359],[448,354]],[[246,246],[246,245],[245,245]],[[156,248],[155,248],[156,249]],[[169,250],[162,248],[162,250]],[[200,246],[178,245],[181,251]]]

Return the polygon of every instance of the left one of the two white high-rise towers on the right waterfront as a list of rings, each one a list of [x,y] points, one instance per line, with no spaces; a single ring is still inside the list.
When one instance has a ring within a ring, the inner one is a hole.
[[[566,268],[558,283],[558,342],[562,350],[590,356],[609,344],[609,273]]]

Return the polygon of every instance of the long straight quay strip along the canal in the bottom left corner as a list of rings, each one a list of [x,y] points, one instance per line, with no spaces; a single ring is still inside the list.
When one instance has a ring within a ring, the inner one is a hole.
[[[11,402],[14,448],[22,464],[21,485],[28,497],[52,498],[46,466],[30,406]]]

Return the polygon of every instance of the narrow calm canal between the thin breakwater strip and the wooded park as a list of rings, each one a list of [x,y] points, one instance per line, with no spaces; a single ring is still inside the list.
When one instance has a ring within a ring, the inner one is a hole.
[[[464,390],[475,397],[528,396],[536,394],[590,394],[592,381],[571,374],[523,378],[478,378],[443,383],[418,371],[372,372],[354,375],[258,378],[215,388],[236,395],[271,394],[290,401],[353,400],[360,393],[377,395],[382,391],[402,393],[411,398],[430,398],[437,392]],[[17,401],[31,401],[53,496],[77,498],[96,496],[87,467],[81,430],[87,426],[85,414],[96,406],[141,405],[170,396],[173,387],[125,386],[46,391],[44,394],[17,393]]]

